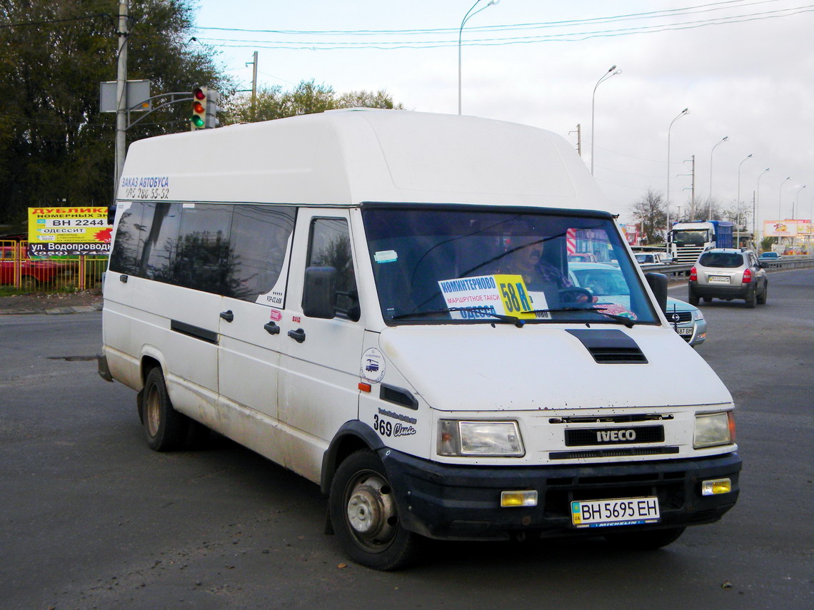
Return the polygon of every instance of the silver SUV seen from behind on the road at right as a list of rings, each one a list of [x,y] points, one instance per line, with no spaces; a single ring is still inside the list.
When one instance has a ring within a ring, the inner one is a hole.
[[[689,303],[698,299],[742,298],[746,307],[766,303],[768,279],[763,264],[751,250],[712,248],[702,252],[689,272]]]

